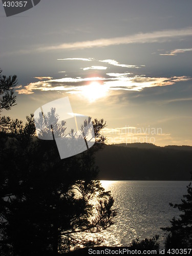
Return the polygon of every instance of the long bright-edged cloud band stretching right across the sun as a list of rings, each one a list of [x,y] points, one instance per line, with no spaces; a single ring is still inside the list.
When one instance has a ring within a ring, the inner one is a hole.
[[[110,73],[109,73],[110,74]],[[118,73],[117,73],[118,74]],[[180,81],[191,80],[187,76],[174,77],[145,77],[145,76],[129,76],[126,73],[122,76],[116,77],[65,77],[61,79],[52,79],[48,81],[37,81],[29,83],[23,88],[16,90],[18,94],[32,94],[35,90],[40,91],[66,91],[68,93],[81,93],[88,90],[89,84],[93,81],[102,84],[102,90],[126,90],[126,91],[142,91],[144,88],[151,88],[157,86],[169,86]]]

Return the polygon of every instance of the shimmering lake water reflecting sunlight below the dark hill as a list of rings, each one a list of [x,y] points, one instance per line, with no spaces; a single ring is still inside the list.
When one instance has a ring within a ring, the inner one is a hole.
[[[111,190],[118,209],[116,223],[103,231],[103,245],[129,246],[139,240],[159,234],[162,248],[165,234],[160,227],[181,212],[169,203],[181,203],[187,194],[189,181],[101,181],[105,190]]]

